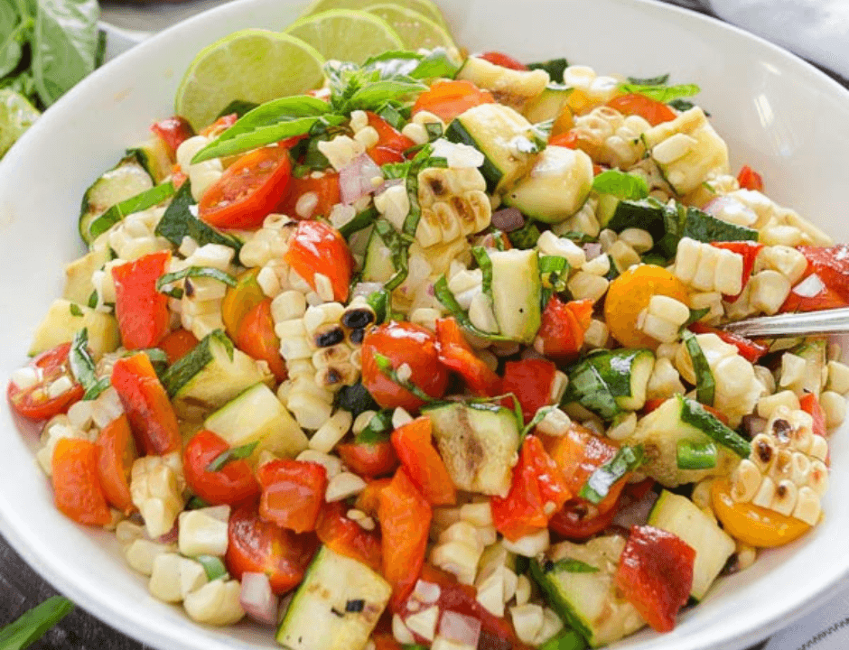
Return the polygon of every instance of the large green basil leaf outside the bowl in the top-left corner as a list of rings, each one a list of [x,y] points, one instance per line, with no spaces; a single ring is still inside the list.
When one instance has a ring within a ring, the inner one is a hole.
[[[99,16],[97,0],[38,0],[33,75],[44,106],[95,69]]]

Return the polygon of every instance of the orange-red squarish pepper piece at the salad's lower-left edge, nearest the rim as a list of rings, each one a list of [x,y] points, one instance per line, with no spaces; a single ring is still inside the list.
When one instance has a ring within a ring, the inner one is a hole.
[[[86,525],[107,525],[112,520],[98,480],[94,442],[62,438],[53,450],[51,469],[53,497],[63,515]]]

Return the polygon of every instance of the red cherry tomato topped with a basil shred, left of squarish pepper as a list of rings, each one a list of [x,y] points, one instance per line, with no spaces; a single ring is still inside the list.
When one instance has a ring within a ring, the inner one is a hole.
[[[203,429],[192,436],[183,450],[186,483],[194,494],[213,506],[232,506],[259,496],[259,483],[247,460],[229,460],[221,469],[207,469],[229,449],[227,441]]]

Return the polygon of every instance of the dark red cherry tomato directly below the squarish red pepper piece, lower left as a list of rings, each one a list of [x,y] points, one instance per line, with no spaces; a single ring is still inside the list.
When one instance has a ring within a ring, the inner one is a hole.
[[[294,534],[259,517],[256,504],[236,508],[227,526],[227,570],[236,579],[242,574],[265,573],[275,594],[294,589],[303,575],[318,540],[313,534]]]

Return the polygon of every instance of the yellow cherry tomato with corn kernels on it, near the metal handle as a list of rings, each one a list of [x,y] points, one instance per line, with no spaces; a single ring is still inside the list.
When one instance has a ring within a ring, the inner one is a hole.
[[[686,285],[662,266],[631,266],[611,282],[604,302],[604,320],[611,336],[625,348],[656,349],[660,345],[637,327],[639,312],[648,307],[655,295],[689,304]]]

